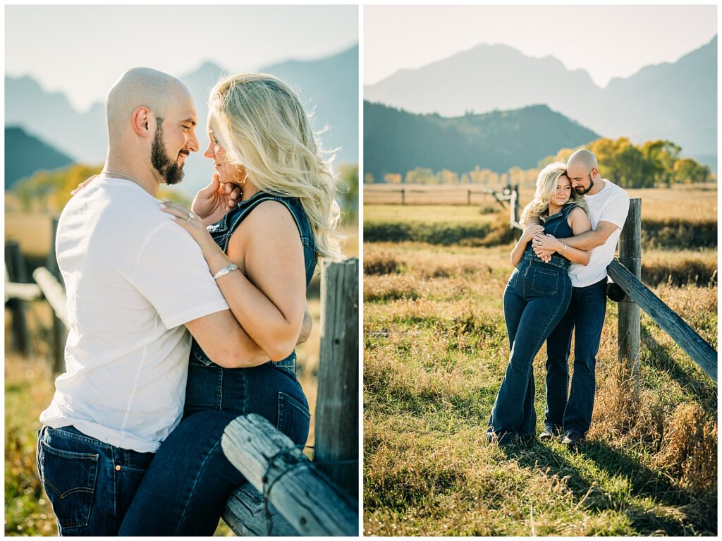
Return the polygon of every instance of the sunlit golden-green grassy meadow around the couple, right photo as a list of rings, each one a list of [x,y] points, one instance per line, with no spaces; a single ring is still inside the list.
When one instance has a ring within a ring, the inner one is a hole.
[[[708,186],[631,195],[643,198],[643,228],[716,222]],[[507,212],[491,198],[471,207],[364,207],[365,534],[716,535],[717,387],[645,314],[639,402],[617,361],[617,304],[609,301],[587,443],[485,442],[508,362]],[[378,224],[388,235],[394,227],[411,233],[370,241]],[[474,237],[471,226],[483,224],[490,230]],[[437,228],[470,233],[417,240]],[[716,348],[716,243],[699,231],[671,247],[646,239],[643,280]],[[534,378],[539,432],[544,347]]]

